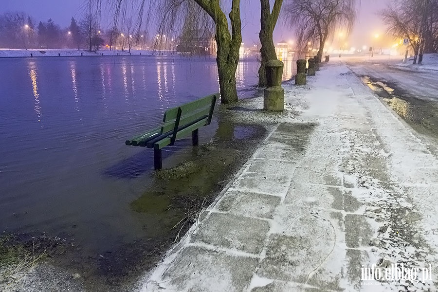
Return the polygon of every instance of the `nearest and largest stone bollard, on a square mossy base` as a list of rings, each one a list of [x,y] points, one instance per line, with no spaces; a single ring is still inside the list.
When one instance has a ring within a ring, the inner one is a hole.
[[[263,91],[263,110],[284,110],[284,89],[281,87],[283,66],[283,62],[279,60],[266,62],[265,71],[268,87]]]

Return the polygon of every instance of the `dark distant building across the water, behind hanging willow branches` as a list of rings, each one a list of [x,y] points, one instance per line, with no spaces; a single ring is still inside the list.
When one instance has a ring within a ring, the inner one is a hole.
[[[216,56],[218,46],[212,33],[197,31],[193,35],[180,37],[176,51],[194,55]]]

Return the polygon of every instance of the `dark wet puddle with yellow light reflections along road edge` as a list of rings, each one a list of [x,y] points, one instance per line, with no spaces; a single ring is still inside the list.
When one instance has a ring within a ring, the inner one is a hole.
[[[438,103],[412,96],[385,80],[362,76],[362,81],[420,134],[438,139]]]

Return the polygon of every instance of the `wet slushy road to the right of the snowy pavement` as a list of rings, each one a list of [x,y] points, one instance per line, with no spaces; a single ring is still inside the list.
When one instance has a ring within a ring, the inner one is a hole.
[[[438,147],[438,71],[399,69],[399,60],[351,60],[348,67],[418,133]]]

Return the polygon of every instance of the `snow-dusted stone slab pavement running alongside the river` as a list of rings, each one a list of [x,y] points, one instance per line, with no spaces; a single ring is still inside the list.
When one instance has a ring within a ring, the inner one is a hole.
[[[143,291],[437,291],[437,159],[342,64],[285,89],[301,114],[277,125]],[[398,279],[402,263],[431,264],[433,280]],[[382,279],[362,280],[373,264]]]

